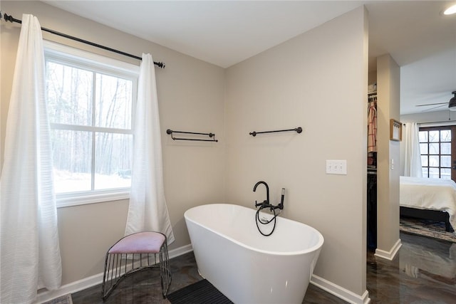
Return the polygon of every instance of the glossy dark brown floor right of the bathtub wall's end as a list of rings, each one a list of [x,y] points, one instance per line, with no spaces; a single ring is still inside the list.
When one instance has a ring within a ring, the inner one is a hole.
[[[371,303],[456,303],[456,243],[400,234],[393,261],[368,253]]]

